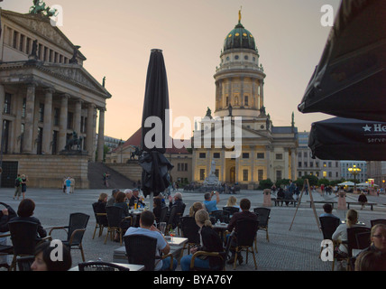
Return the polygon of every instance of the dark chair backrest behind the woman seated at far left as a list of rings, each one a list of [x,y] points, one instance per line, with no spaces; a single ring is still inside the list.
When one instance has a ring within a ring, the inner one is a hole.
[[[33,255],[39,241],[37,238],[38,224],[23,220],[11,220],[8,226],[14,246],[14,255]]]

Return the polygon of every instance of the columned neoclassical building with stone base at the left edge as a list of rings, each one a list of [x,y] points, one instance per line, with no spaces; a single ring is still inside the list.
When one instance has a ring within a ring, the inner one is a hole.
[[[79,46],[49,17],[5,10],[0,17],[2,186],[23,173],[30,186],[58,187],[71,176],[78,188],[87,188],[87,163],[103,151],[110,93],[83,67]],[[84,153],[62,154],[73,132]]]

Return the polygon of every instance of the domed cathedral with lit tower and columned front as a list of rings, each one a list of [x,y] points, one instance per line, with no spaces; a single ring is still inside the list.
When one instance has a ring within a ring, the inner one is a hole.
[[[253,34],[244,28],[239,16],[239,22],[225,36],[221,63],[216,67],[213,119],[223,124],[225,118],[231,119],[233,126],[241,130],[241,153],[226,157],[225,152],[232,149],[215,145],[215,125],[207,127],[205,122],[201,123],[195,133],[204,138],[211,133],[212,139],[211,146],[204,147],[195,144],[193,138],[193,181],[204,182],[212,170],[220,182],[238,182],[250,189],[265,179],[275,182],[297,178],[298,129],[293,117],[291,126],[272,125],[264,107],[266,74],[259,58]],[[242,117],[240,126],[235,125],[238,117]],[[216,168],[212,168],[213,163]]]

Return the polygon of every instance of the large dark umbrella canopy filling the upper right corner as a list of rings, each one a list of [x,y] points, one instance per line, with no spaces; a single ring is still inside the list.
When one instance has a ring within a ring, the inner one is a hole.
[[[342,1],[298,108],[386,121],[386,1]]]

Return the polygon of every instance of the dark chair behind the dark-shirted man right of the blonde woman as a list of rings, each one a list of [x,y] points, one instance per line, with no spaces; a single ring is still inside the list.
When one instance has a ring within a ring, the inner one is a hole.
[[[256,258],[254,256],[253,242],[259,228],[259,221],[254,219],[240,219],[235,226],[235,250],[234,250],[234,269],[236,268],[237,255],[242,251],[246,252],[246,263],[248,255],[252,253],[254,268],[257,270]],[[233,238],[234,239],[234,238]],[[231,238],[229,239],[232,240]]]

